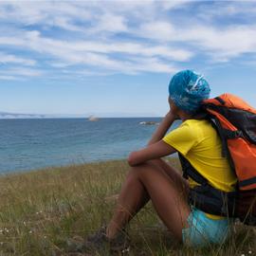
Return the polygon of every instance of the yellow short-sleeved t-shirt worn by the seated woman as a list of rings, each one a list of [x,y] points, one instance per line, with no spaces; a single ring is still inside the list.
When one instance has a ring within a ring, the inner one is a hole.
[[[224,192],[234,191],[236,176],[230,170],[228,159],[221,155],[221,140],[208,120],[185,120],[163,140],[184,155],[212,187]],[[197,185],[191,178],[189,182],[191,187]]]

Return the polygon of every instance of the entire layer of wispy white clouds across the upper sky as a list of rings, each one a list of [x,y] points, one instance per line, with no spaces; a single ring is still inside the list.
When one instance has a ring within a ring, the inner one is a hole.
[[[11,27],[1,28],[0,45],[8,46],[8,50],[3,50],[0,62],[20,64],[21,68],[43,59],[55,72],[76,65],[81,70],[91,67],[87,74],[97,72],[97,68],[102,74],[133,74],[172,72],[198,53],[216,63],[245,53],[256,54],[256,24],[220,27],[200,22],[202,13],[209,13],[211,21],[224,13],[240,15],[248,5],[230,2],[221,9],[212,2],[216,8],[212,10],[199,3],[200,11],[194,12],[190,26],[176,22],[174,11],[179,9],[182,15],[191,3],[199,2],[0,2],[0,22]],[[63,30],[55,33],[56,27]],[[26,49],[34,60],[26,53],[17,54],[20,49]]]

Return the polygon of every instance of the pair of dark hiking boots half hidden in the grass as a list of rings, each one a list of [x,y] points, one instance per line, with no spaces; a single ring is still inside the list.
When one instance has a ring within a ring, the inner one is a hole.
[[[70,243],[71,242],[71,243]],[[129,252],[129,237],[125,231],[119,232],[114,239],[106,236],[106,227],[102,227],[85,240],[75,239],[67,243],[69,252],[111,251],[125,254]]]

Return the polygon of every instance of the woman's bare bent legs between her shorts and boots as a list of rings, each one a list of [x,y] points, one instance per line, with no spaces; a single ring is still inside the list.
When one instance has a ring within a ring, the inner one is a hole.
[[[190,213],[187,192],[186,180],[161,159],[133,167],[122,186],[107,236],[115,237],[151,199],[164,224],[181,240],[181,231]]]

